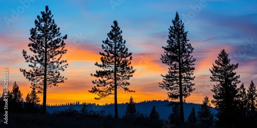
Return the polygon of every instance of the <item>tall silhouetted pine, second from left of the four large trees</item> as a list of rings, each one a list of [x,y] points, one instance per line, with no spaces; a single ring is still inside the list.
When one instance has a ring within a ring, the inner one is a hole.
[[[114,95],[115,118],[118,118],[117,89],[122,89],[125,92],[135,92],[127,88],[130,85],[127,80],[130,80],[135,70],[133,70],[132,66],[130,67],[132,53],[127,52],[126,41],[123,41],[121,34],[122,31],[115,20],[112,30],[107,34],[108,38],[103,41],[102,49],[105,53],[99,53],[102,56],[102,64],[95,63],[96,66],[103,70],[96,71],[96,74],[91,74],[91,76],[99,79],[93,81],[96,86],[89,90],[90,93],[95,93],[99,96],[99,98],[95,99]]]

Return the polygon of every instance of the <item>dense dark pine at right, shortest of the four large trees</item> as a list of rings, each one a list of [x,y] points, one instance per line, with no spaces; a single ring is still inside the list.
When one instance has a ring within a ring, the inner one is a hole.
[[[223,49],[218,54],[215,65],[213,64],[212,69],[210,69],[212,73],[211,81],[216,83],[211,90],[214,93],[214,99],[211,102],[218,111],[216,115],[218,125],[232,126],[236,125],[235,122],[238,121],[236,120],[236,113],[238,112],[236,84],[240,83],[240,80],[238,80],[240,75],[233,72],[237,67],[238,63],[236,65],[231,64],[228,54]]]

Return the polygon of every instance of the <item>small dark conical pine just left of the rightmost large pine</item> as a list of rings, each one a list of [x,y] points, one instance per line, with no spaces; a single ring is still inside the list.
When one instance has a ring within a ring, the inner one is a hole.
[[[197,120],[207,125],[213,124],[214,114],[211,112],[211,103],[207,96],[204,98],[203,103],[201,103],[201,108],[197,111]]]

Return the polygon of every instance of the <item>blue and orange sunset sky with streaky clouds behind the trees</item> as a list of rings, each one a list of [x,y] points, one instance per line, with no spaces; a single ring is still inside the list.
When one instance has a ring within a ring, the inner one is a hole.
[[[23,98],[31,92],[30,81],[20,72],[29,70],[22,51],[29,51],[30,29],[34,20],[48,5],[53,14],[67,48],[64,59],[68,67],[62,76],[67,80],[58,87],[47,90],[47,104],[66,102],[113,103],[114,96],[100,100],[88,92],[95,85],[90,76],[101,70],[94,64],[100,62],[99,52],[102,40],[107,38],[114,20],[122,30],[128,52],[132,52],[132,66],[136,70],[129,80],[128,88],[135,93],[118,90],[118,103],[134,101],[164,100],[167,90],[159,87],[161,74],[168,73],[168,66],[160,60],[167,46],[169,28],[176,11],[185,23],[187,37],[194,48],[195,61],[193,81],[195,91],[186,102],[201,103],[205,96],[213,99],[209,69],[222,49],[229,53],[231,63],[238,63],[235,72],[241,83],[248,88],[251,80],[257,84],[257,2],[240,1],[3,1],[0,0],[0,90],[4,85],[4,69],[9,70],[9,90],[14,81],[18,84]],[[29,53],[29,52],[28,52]],[[32,55],[32,53],[30,54]],[[2,94],[2,93],[1,93]],[[41,103],[43,96],[40,95]]]

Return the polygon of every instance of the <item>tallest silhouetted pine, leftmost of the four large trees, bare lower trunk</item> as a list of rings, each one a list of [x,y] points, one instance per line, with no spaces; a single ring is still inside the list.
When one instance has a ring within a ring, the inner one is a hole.
[[[64,49],[64,39],[67,35],[61,36],[60,28],[54,23],[53,15],[48,6],[41,12],[35,20],[35,28],[30,29],[31,41],[29,50],[34,53],[30,56],[23,50],[26,62],[30,62],[32,70],[20,69],[23,75],[31,81],[32,87],[43,93],[43,113],[46,113],[46,89],[58,86],[66,78],[61,76],[60,71],[67,68],[67,60],[62,60],[62,55],[66,53]]]

